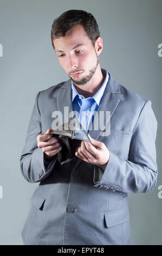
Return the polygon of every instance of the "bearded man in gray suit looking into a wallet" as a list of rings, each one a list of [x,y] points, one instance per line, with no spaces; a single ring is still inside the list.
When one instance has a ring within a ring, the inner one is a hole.
[[[158,175],[151,101],[101,69],[103,41],[91,14],[66,11],[54,20],[51,39],[70,80],[36,95],[20,162],[24,178],[40,184],[22,230],[23,242],[129,245],[127,193],[151,191]],[[63,142],[51,132],[54,111],[63,113],[64,107],[79,113],[90,142],[81,141],[76,155],[60,164]],[[96,130],[91,125],[96,115],[93,119],[90,113],[103,111],[110,112],[110,126]]]

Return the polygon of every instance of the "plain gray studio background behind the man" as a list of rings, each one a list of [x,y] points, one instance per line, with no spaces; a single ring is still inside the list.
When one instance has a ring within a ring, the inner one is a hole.
[[[151,192],[128,198],[132,245],[162,245],[161,0],[0,0],[0,244],[23,244],[21,230],[39,184],[23,178],[19,158],[36,93],[68,79],[52,49],[50,31],[53,20],[69,9],[83,9],[96,17],[104,47],[101,67],[152,101],[158,120],[157,185]]]

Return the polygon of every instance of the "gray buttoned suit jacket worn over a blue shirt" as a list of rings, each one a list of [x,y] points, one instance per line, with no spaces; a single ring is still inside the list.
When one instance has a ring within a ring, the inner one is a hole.
[[[151,191],[157,181],[157,120],[151,101],[109,81],[98,111],[110,111],[110,135],[92,130],[92,138],[110,151],[104,173],[77,156],[46,168],[36,136],[52,126],[52,112],[72,109],[71,80],[36,95],[20,165],[24,178],[40,182],[22,230],[25,245],[129,245],[127,193]]]

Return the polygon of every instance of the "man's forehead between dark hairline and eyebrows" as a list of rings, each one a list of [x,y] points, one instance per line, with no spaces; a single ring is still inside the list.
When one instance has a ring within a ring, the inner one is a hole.
[[[70,34],[61,36],[53,40],[55,51],[64,51],[65,48],[72,49],[75,45],[89,45],[91,40],[86,35],[83,27],[78,25],[74,27]]]

